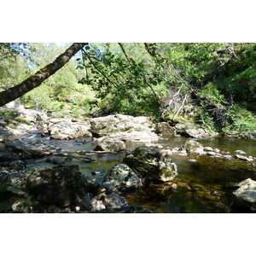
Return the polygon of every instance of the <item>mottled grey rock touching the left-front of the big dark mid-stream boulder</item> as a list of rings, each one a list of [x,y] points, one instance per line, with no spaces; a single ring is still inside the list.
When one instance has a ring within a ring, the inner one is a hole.
[[[125,164],[113,166],[103,179],[102,186],[108,191],[125,191],[142,186],[142,180]]]

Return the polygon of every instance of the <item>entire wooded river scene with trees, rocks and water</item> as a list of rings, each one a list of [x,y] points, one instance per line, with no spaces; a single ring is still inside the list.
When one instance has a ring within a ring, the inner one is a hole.
[[[254,43],[1,43],[0,212],[255,212],[255,63]]]

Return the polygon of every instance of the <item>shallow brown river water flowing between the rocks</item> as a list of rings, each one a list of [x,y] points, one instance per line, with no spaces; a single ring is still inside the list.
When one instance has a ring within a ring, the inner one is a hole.
[[[180,147],[189,138],[164,137],[158,142],[164,148]],[[35,143],[43,142],[69,151],[93,150],[95,142],[90,138],[83,140],[56,141],[48,137],[31,139]],[[237,149],[243,150],[247,155],[256,156],[256,141],[214,138],[199,140],[205,147],[219,148],[230,154]],[[127,143],[127,148],[132,150],[143,144]],[[95,160],[85,163],[81,160],[72,160],[78,164],[80,172],[90,175],[95,169],[108,171],[115,164],[121,163],[124,154],[96,154]],[[189,161],[189,160],[196,161]],[[129,203],[148,207],[153,212],[240,212],[240,209],[230,208],[226,199],[234,188],[234,184],[250,177],[256,180],[256,166],[252,162],[243,160],[226,160],[223,158],[209,157],[207,155],[178,155],[173,154],[172,160],[177,164],[178,176],[171,183],[151,183],[135,192],[125,195]],[[54,166],[45,159],[28,163],[29,168],[42,168]],[[172,189],[172,184],[177,184],[177,189]]]

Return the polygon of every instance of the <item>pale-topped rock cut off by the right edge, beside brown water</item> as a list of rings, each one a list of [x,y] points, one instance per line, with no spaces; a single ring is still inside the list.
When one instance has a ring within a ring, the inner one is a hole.
[[[245,207],[251,212],[256,212],[256,182],[247,178],[241,183],[237,183],[236,186],[239,189],[232,192],[236,205]]]

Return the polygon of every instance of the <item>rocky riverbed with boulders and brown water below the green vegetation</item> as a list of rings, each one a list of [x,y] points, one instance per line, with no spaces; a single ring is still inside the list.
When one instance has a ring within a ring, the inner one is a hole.
[[[256,211],[254,141],[122,114],[24,116],[0,119],[1,212]]]

